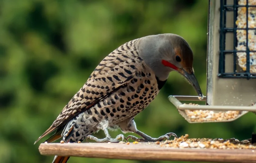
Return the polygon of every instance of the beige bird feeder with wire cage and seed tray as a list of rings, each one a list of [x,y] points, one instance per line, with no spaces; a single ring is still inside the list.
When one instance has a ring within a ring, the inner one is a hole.
[[[209,0],[207,94],[169,96],[189,123],[228,122],[256,105],[256,0]]]

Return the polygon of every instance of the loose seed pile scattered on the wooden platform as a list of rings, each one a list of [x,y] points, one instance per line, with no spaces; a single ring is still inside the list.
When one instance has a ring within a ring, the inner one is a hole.
[[[197,148],[197,149],[256,149],[256,143],[251,144],[248,140],[237,139],[208,139],[188,138],[189,135],[181,136],[165,142],[156,142],[161,147],[172,148]]]

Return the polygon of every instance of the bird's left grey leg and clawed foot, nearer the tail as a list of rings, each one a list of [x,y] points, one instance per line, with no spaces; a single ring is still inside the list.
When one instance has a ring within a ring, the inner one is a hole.
[[[125,138],[125,137],[123,136],[123,134],[120,134],[120,135],[117,135],[116,138],[114,139],[114,138],[111,138],[111,136],[109,135],[108,129],[105,128],[105,129],[103,129],[103,131],[104,131],[104,133],[105,133],[105,135],[106,135],[105,138],[99,139],[99,138],[97,138],[97,137],[95,137],[95,136],[88,135],[88,136],[86,137],[86,140],[89,138],[89,139],[91,139],[91,140],[94,140],[95,142],[119,142],[119,139],[122,139],[122,141],[123,141],[123,139]],[[126,139],[126,138],[125,138],[125,139]]]

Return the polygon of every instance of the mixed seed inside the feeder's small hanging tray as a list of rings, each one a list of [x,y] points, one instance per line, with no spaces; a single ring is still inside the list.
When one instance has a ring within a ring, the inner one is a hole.
[[[184,105],[198,105],[198,104],[184,104]],[[207,122],[207,121],[223,121],[232,120],[241,114],[241,111],[218,111],[213,110],[185,110],[188,119],[191,122]]]

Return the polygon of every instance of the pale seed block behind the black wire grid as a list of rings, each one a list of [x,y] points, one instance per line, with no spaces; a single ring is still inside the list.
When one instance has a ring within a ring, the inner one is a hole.
[[[239,0],[238,5],[246,5],[246,0]],[[256,0],[248,0],[248,5],[256,5]],[[237,9],[237,28],[246,28],[246,7]],[[256,28],[256,8],[248,8],[248,28]],[[237,47],[236,50],[246,50],[246,30],[236,30]],[[248,48],[256,50],[256,31],[248,30]],[[237,52],[238,65],[246,71],[246,53]],[[256,53],[250,52],[250,72],[256,73]]]

